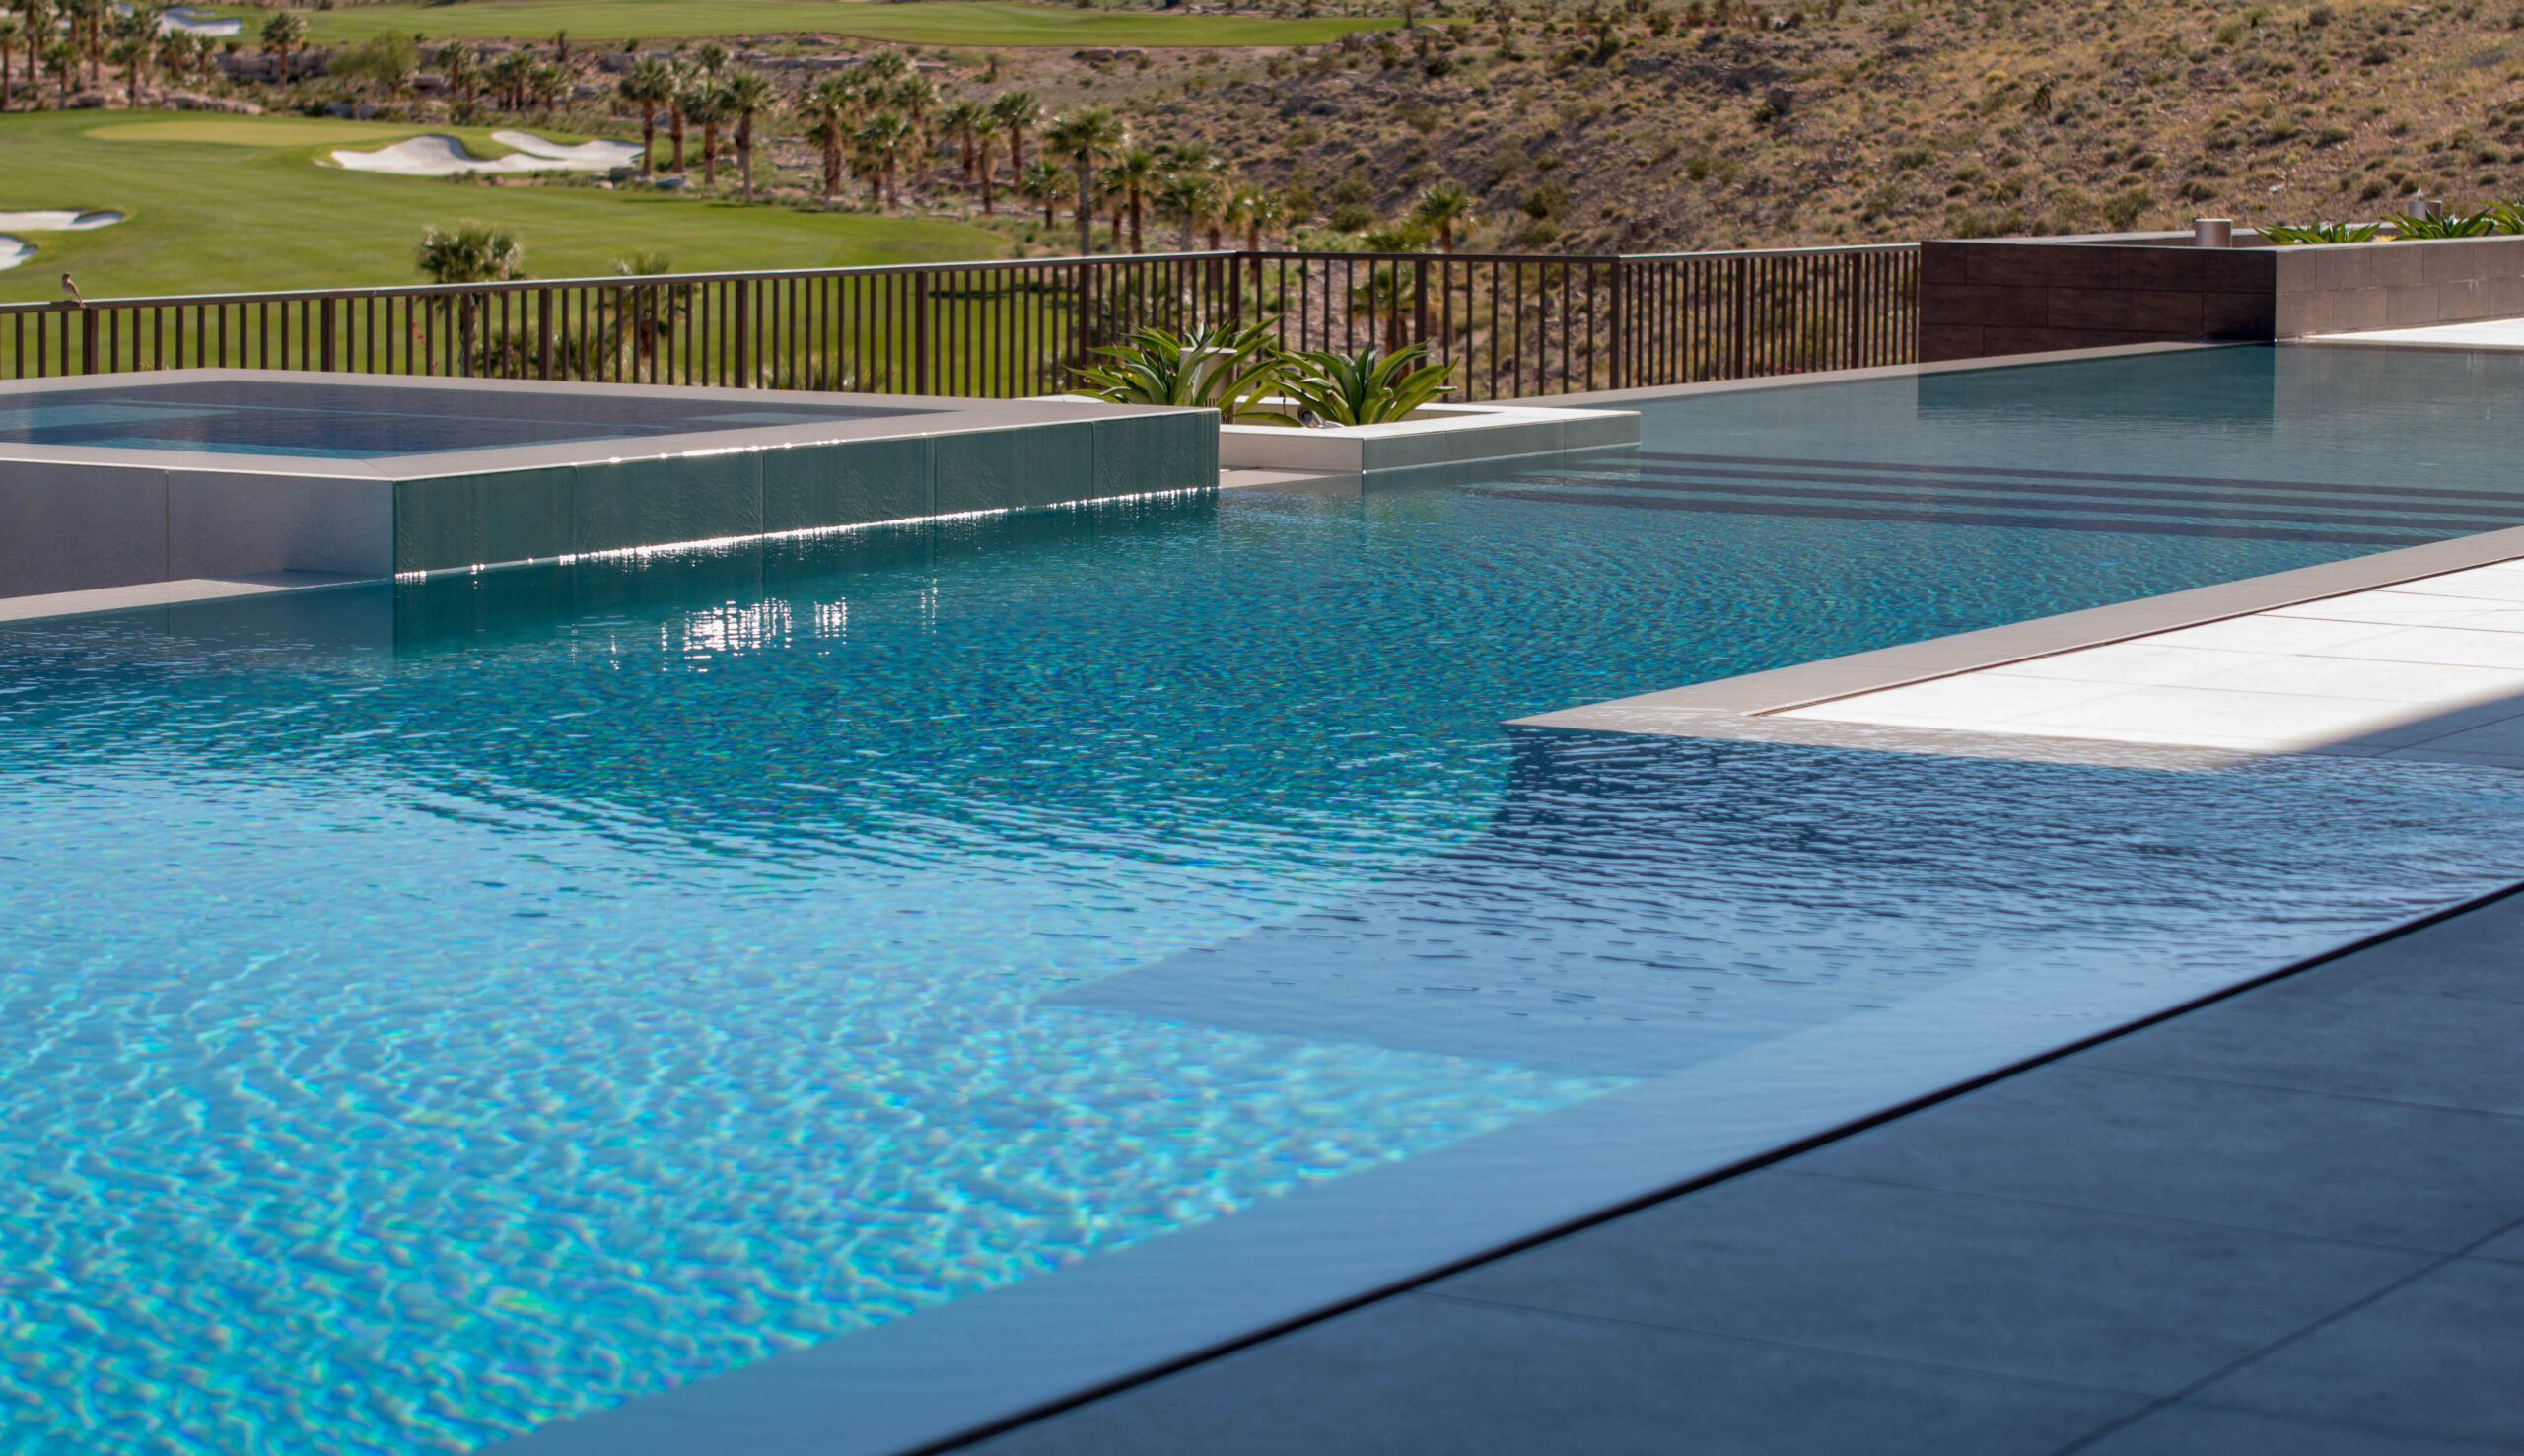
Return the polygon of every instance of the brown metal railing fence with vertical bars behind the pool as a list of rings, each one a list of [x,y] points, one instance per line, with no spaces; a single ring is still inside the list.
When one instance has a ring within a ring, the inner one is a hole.
[[[1918,250],[1169,252],[0,305],[0,379],[321,368],[1007,399],[1141,326],[1426,343],[1456,399],[1908,363]]]

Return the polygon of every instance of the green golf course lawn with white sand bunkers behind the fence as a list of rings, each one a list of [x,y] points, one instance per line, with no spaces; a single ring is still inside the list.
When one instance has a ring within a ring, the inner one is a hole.
[[[422,230],[467,217],[515,230],[538,278],[611,273],[616,257],[641,250],[692,273],[1007,252],[1000,237],[944,220],[591,187],[482,187],[313,164],[333,146],[381,146],[424,131],[454,131],[477,156],[505,151],[490,129],[151,111],[0,116],[0,212],[129,214],[93,232],[23,235],[40,252],[0,273],[0,303],[58,298],[61,273],[76,273],[88,298],[419,283],[411,250]]]

